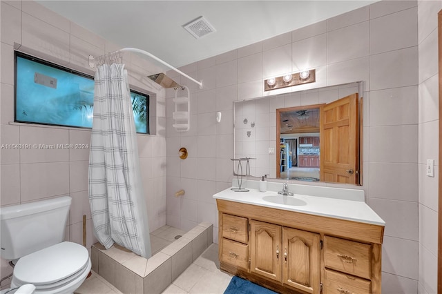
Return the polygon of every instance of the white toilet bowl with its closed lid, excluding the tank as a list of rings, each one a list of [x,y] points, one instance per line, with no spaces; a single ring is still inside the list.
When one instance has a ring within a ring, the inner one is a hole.
[[[10,288],[33,284],[34,293],[73,293],[86,280],[90,267],[84,246],[61,242],[21,257]]]

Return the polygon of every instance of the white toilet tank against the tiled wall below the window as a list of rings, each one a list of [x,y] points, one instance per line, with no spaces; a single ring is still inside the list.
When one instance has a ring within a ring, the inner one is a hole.
[[[64,240],[69,196],[0,207],[0,256],[18,259]]]

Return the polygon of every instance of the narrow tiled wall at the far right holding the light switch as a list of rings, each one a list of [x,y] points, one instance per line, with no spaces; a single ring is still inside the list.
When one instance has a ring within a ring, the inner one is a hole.
[[[418,1],[419,293],[437,293],[440,98],[436,14],[441,9],[442,1]],[[425,175],[427,159],[436,164],[434,177]]]

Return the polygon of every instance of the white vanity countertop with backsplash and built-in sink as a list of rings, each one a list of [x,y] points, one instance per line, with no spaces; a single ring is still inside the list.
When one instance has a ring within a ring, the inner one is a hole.
[[[289,184],[289,190],[294,195],[283,197],[280,195],[280,197],[283,202],[290,197],[303,201],[299,201],[301,205],[294,206],[267,202],[263,199],[265,196],[278,195],[275,187],[282,190],[282,183],[267,183],[267,188],[273,190],[267,192],[260,192],[258,185],[259,181],[249,180],[242,185],[249,192],[235,192],[227,188],[213,195],[213,198],[385,226],[383,219],[364,202],[363,190]]]

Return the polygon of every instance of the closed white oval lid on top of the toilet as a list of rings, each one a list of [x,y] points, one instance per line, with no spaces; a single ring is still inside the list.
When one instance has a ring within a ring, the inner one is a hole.
[[[62,242],[21,257],[15,265],[14,277],[29,284],[51,284],[77,273],[88,260],[84,246]]]

